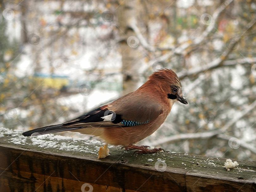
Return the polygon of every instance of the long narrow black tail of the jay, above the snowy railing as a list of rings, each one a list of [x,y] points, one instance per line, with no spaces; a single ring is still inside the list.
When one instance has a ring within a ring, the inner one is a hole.
[[[38,129],[33,129],[30,131],[26,131],[24,133],[22,133],[23,136],[38,136],[38,135],[45,135],[45,134],[49,134],[49,133],[57,133],[57,132],[62,132],[62,131],[69,131],[69,130],[74,130],[74,129],[81,129],[81,128],[77,128],[77,127],[63,127],[63,124],[58,124],[58,125],[50,125],[50,126],[46,126],[46,127],[41,127]]]

